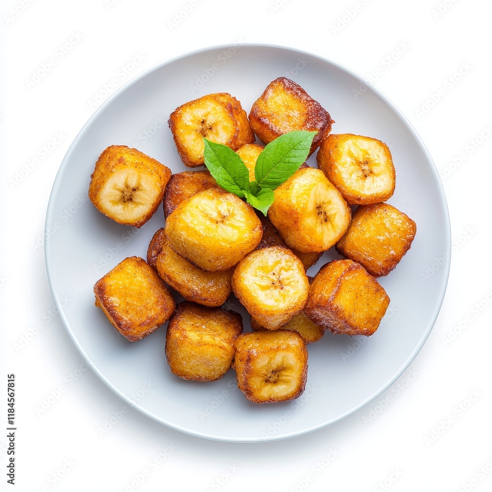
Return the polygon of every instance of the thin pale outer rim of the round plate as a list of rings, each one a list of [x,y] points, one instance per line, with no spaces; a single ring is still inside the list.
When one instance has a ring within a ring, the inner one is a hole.
[[[70,144],[68,150],[66,151],[65,155],[63,156],[62,162],[60,163],[60,167],[57,171],[57,174],[55,176],[55,180],[53,182],[52,189],[50,191],[50,198],[48,201],[48,206],[47,206],[47,211],[46,211],[46,219],[45,219],[45,227],[44,227],[44,232],[45,235],[47,234],[47,229],[49,227],[49,224],[52,223],[52,218],[53,218],[53,213],[54,213],[54,203],[55,203],[55,196],[56,192],[58,191],[61,181],[62,181],[62,174],[64,172],[65,167],[67,166],[68,161],[70,160],[71,154],[73,153],[73,150],[75,146],[78,144],[79,140],[82,139],[83,135],[85,132],[88,130],[88,128],[91,126],[93,120],[95,120],[101,112],[105,110],[105,108],[116,98],[119,97],[123,92],[128,90],[131,86],[136,84],[138,81],[140,81],[142,78],[148,76],[150,73],[154,72],[155,70],[158,70],[162,68],[165,65],[171,64],[173,62],[177,62],[179,60],[182,60],[184,58],[192,57],[195,55],[203,54],[206,52],[212,52],[220,49],[228,49],[231,47],[236,47],[237,43],[231,44],[231,43],[226,43],[226,44],[220,44],[220,45],[213,45],[213,46],[207,46],[204,48],[199,48],[196,50],[192,51],[187,51],[185,53],[182,53],[180,55],[172,56],[165,58],[164,60],[161,60],[160,62],[155,63],[154,65],[148,67],[132,79],[128,80],[122,87],[120,87],[117,91],[115,91],[113,94],[111,94],[91,115],[91,117],[87,120],[87,122],[82,126],[82,128],[79,130],[75,138],[73,139],[72,143]],[[431,157],[431,154],[429,153],[424,141],[412,125],[408,118],[403,114],[403,112],[400,110],[400,108],[386,95],[384,94],[380,89],[378,89],[370,80],[368,80],[366,77],[363,75],[359,74],[355,70],[347,67],[346,65],[337,62],[333,59],[329,59],[326,57],[323,57],[321,55],[316,55],[314,53],[294,48],[294,47],[289,47],[289,46],[282,46],[282,45],[277,45],[277,44],[269,44],[269,43],[240,43],[240,48],[247,47],[247,48],[267,48],[267,49],[274,49],[274,50],[282,50],[282,51],[290,51],[294,52],[296,54],[300,55],[307,55],[312,58],[316,58],[317,60],[320,60],[322,62],[328,63],[332,66],[335,66],[336,68],[342,70],[343,72],[351,75],[355,79],[359,80],[361,83],[366,85],[368,88],[370,88],[378,97],[380,97],[387,106],[389,106],[395,113],[396,115],[400,118],[401,122],[404,123],[404,125],[407,127],[407,129],[410,131],[410,133],[413,135],[415,138],[416,142],[419,144],[420,148],[422,149],[423,153],[425,154],[428,162],[431,164],[429,166],[431,174],[434,178],[434,181],[437,185],[437,189],[439,191],[439,203],[440,207],[442,209],[443,215],[444,215],[444,227],[445,227],[445,243],[448,246],[448,249],[450,251],[450,254],[448,255],[448,258],[446,259],[446,263],[443,265],[443,268],[441,269],[443,271],[443,281],[439,285],[438,289],[438,302],[436,303],[434,310],[432,312],[432,316],[429,319],[428,326],[423,333],[422,337],[419,340],[419,343],[415,346],[413,351],[410,353],[410,355],[406,358],[406,360],[401,364],[400,368],[395,372],[395,375],[388,380],[384,385],[382,385],[377,391],[375,391],[372,395],[370,395],[368,398],[365,400],[361,401],[357,405],[353,406],[346,412],[344,412],[341,415],[338,415],[337,417],[327,421],[323,422],[321,424],[317,424],[315,426],[307,427],[305,429],[297,430],[297,431],[292,431],[292,432],[286,432],[283,434],[277,434],[273,436],[255,436],[255,437],[230,437],[230,436],[223,436],[223,435],[216,435],[216,434],[209,434],[206,432],[200,432],[200,431],[194,431],[192,429],[185,428],[184,426],[180,426],[179,424],[176,424],[174,422],[170,422],[166,419],[163,419],[162,417],[159,417],[155,415],[154,413],[150,412],[149,410],[145,409],[141,405],[139,405],[137,402],[130,400],[126,395],[123,394],[122,391],[120,391],[118,388],[114,386],[114,384],[95,366],[95,364],[92,362],[91,358],[87,354],[87,352],[84,350],[84,348],[81,346],[80,342],[78,341],[77,337],[73,333],[70,323],[68,322],[64,309],[62,307],[62,303],[55,291],[55,286],[54,286],[54,281],[53,281],[53,276],[51,272],[51,266],[50,266],[50,253],[48,251],[48,245],[49,241],[46,241],[44,244],[44,258],[45,258],[45,265],[46,265],[46,272],[48,276],[48,282],[50,285],[50,290],[53,296],[53,299],[55,301],[55,304],[59,310],[60,318],[62,320],[63,326],[65,327],[66,332],[68,333],[68,336],[72,340],[73,344],[79,351],[80,355],[83,357],[85,362],[88,364],[88,366],[94,371],[94,373],[108,386],[116,395],[118,395],[123,401],[125,401],[127,404],[141,412],[147,417],[150,417],[154,421],[158,422],[159,424],[163,424],[171,429],[174,429],[176,431],[181,431],[185,434],[188,435],[193,435],[196,437],[201,437],[201,438],[206,438],[206,439],[211,439],[215,441],[223,441],[223,442],[265,442],[265,441],[277,441],[277,440],[282,440],[282,439],[287,439],[287,438],[292,438],[292,437],[297,437],[301,435],[306,435],[308,433],[318,431],[320,429],[327,428],[329,426],[332,426],[333,424],[345,419],[349,415],[354,414],[367,404],[371,402],[372,400],[375,400],[379,395],[381,395],[384,391],[386,391],[394,382],[400,378],[400,376],[405,372],[406,369],[410,366],[412,361],[415,359],[417,354],[420,352],[422,347],[424,346],[424,343],[426,342],[427,338],[429,338],[429,335],[431,334],[432,328],[435,325],[435,322],[437,320],[437,317],[439,315],[439,312],[441,310],[442,304],[444,302],[444,296],[446,293],[447,289],[447,284],[449,280],[449,271],[450,271],[450,265],[451,265],[451,224],[450,224],[450,217],[449,217],[449,208],[447,205],[446,201],[446,196],[444,193],[444,188],[442,185],[442,182],[439,177],[439,173],[437,171],[437,168],[434,164],[434,161]]]

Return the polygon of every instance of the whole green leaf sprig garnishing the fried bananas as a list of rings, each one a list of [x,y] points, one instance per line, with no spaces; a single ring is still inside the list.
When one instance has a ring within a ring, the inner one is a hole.
[[[273,190],[287,181],[306,161],[316,131],[291,131],[270,142],[258,156],[255,181],[243,159],[226,145],[204,138],[205,165],[217,184],[267,215],[274,201]]]

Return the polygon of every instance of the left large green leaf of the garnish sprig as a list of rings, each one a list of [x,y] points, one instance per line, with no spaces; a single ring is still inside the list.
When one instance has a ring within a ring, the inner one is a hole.
[[[219,186],[244,198],[249,186],[249,172],[243,159],[226,145],[216,144],[206,138],[205,165]]]

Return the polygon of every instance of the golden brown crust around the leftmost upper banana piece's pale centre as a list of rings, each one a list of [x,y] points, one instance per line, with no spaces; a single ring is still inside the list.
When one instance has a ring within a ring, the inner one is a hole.
[[[152,191],[157,190],[137,218],[125,219],[124,216],[116,215],[105,198],[107,186],[116,172],[130,172],[135,176],[147,177],[152,182]],[[95,164],[89,185],[89,198],[99,212],[119,224],[142,227],[159,207],[170,177],[171,170],[168,167],[143,152],[125,145],[112,145],[102,152]]]

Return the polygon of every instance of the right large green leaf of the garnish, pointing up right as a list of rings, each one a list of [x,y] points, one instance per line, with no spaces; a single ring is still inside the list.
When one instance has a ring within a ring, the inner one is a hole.
[[[254,177],[260,188],[275,189],[306,161],[316,131],[290,131],[270,142],[258,156]]]

